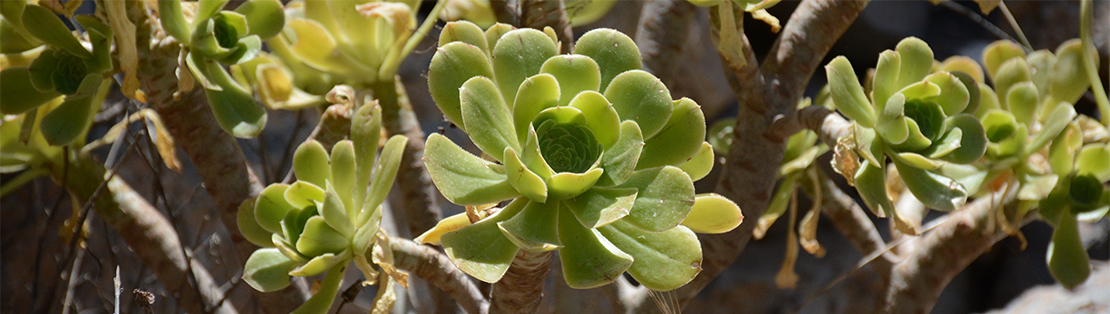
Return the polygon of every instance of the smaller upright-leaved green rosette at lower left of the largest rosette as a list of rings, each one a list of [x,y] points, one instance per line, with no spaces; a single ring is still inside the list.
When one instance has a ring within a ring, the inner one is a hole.
[[[248,284],[276,291],[290,284],[290,276],[317,275],[351,261],[367,273],[367,280],[374,277],[370,261],[375,260],[367,256],[380,241],[381,204],[408,141],[390,138],[375,163],[380,130],[381,108],[363,105],[352,118],[351,140],[337,142],[331,154],[319,142],[301,144],[293,155],[296,182],[271,184],[240,207],[243,236],[264,247],[246,261]],[[325,284],[339,285],[339,278]],[[329,288],[331,296],[319,296],[327,300],[323,310],[334,300],[334,287]]]

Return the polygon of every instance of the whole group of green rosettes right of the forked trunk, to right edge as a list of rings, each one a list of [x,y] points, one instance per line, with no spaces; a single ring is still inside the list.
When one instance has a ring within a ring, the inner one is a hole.
[[[869,94],[848,61],[834,59],[826,68],[833,100],[854,124],[846,160],[862,158],[835,164],[868,206],[909,233],[888,196],[887,158],[929,209],[955,210],[969,196],[1016,185],[1016,216],[1038,209],[1056,226],[1049,270],[1078,285],[1090,265],[1077,221],[1110,210],[1110,132],[1073,108],[1090,87],[1082,49],[1072,40],[1054,53],[1026,53],[998,41],[980,67],[966,57],[934,61],[925,42],[909,38],[880,54]]]

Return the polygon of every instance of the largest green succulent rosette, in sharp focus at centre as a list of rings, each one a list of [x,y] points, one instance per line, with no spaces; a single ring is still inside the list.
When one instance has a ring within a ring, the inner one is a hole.
[[[652,290],[682,286],[700,271],[694,232],[743,220],[731,201],[695,195],[694,180],[714,163],[700,108],[639,70],[639,51],[618,31],[557,51],[551,31],[444,28],[428,88],[488,160],[432,134],[428,172],[456,204],[514,200],[473,224],[448,217],[418,240],[441,243],[484,282],[498,281],[518,250],[558,250],[572,287],[625,271]]]

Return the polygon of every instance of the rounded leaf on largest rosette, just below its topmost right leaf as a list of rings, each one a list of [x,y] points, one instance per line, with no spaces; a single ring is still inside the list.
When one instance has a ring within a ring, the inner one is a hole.
[[[674,107],[667,87],[655,75],[642,70],[624,72],[613,78],[605,89],[605,99],[613,103],[622,121],[636,121],[646,139],[655,136],[663,129]]]

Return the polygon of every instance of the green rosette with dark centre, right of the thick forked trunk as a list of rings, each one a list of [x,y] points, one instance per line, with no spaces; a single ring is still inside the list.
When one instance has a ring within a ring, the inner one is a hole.
[[[868,97],[844,57],[826,67],[836,108],[854,121],[859,165],[838,168],[852,176],[864,202],[877,215],[890,215],[900,230],[916,233],[902,221],[886,193],[889,156],[906,188],[927,207],[951,211],[968,197],[967,189],[939,174],[946,163],[968,164],[986,151],[987,135],[972,113],[979,88],[971,74],[934,71],[932,50],[907,38],[884,51]],[[855,169],[854,169],[855,168]]]

